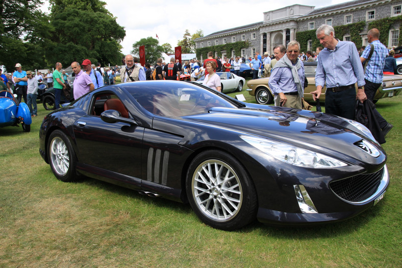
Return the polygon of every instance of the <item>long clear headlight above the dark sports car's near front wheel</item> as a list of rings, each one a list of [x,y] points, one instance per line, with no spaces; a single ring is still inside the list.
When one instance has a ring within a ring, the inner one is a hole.
[[[287,164],[312,168],[330,168],[347,165],[335,158],[301,149],[280,141],[246,135],[240,135],[240,138],[262,152]]]

